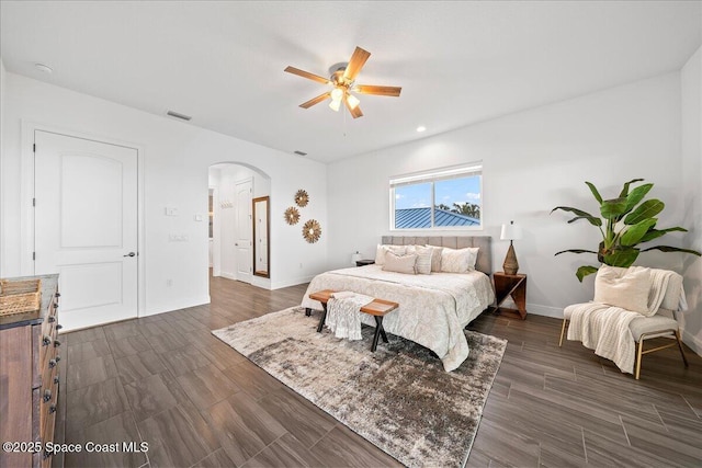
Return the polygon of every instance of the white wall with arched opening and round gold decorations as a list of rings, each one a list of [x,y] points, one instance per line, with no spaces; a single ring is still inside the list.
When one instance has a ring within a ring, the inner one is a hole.
[[[5,75],[2,121],[2,219],[4,246],[0,275],[23,271],[20,208],[22,176],[22,122],[35,122],[66,132],[133,144],[143,149],[145,244],[145,298],[141,313],[203,304],[207,288],[208,167],[229,161],[259,168],[271,178],[271,287],[308,281],[326,266],[327,237],[307,244],[298,229],[291,230],[283,212],[298,189],[313,203],[307,215],[326,226],[326,167],[248,141],[204,130],[189,124],[136,111],[86,94],[68,91],[14,73]],[[197,118],[195,116],[195,118]],[[26,137],[26,136],[25,136]],[[26,199],[23,201],[26,203]],[[180,216],[165,216],[165,207],[178,207]],[[202,215],[203,221],[194,221]],[[169,242],[169,233],[185,233],[188,242]],[[166,279],[172,279],[168,287]]]

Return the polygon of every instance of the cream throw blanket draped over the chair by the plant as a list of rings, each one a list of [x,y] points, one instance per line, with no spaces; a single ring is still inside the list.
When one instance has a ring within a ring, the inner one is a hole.
[[[641,269],[631,266],[630,270]],[[666,270],[650,270],[652,287],[648,293],[648,311],[655,313],[668,288],[670,277],[677,273]],[[680,306],[684,307],[684,293]],[[568,340],[581,341],[582,345],[595,350],[595,354],[611,359],[624,373],[634,373],[636,343],[629,328],[632,320],[643,317],[638,312],[610,307],[605,304],[588,303],[568,306],[570,326]]]

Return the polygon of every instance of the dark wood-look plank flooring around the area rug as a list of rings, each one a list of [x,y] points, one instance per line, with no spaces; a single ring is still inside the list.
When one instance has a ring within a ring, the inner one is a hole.
[[[212,304],[66,333],[57,442],[148,443],[148,452],[66,453],[55,467],[397,466],[210,331],[299,305],[212,278]],[[644,358],[641,380],[561,321],[484,313],[472,329],[509,340],[468,466],[701,466],[702,358]],[[113,449],[114,446],[104,446]]]

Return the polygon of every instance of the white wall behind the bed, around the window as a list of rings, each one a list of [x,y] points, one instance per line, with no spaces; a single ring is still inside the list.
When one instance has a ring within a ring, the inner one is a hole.
[[[615,197],[623,182],[644,178],[656,184],[649,196],[667,204],[659,226],[681,224],[680,152],[680,73],[672,72],[346,159],[329,167],[330,266],[348,265],[356,249],[372,256],[389,233],[389,176],[483,160],[485,229],[461,233],[492,236],[494,271],[501,271],[508,242],[499,240],[500,225],[521,224],[524,239],[514,248],[520,272],[529,275],[528,309],[562,317],[565,306],[593,295],[592,277],[580,284],[577,266],[598,263],[554,253],[596,249],[600,235],[551,209],[597,214],[585,181]],[[665,240],[678,246],[682,237]],[[680,271],[682,260],[653,252],[638,263]]]

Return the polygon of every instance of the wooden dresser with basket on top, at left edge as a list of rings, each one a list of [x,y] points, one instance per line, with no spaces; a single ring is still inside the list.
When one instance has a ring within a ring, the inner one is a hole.
[[[0,467],[52,465],[44,449],[58,401],[58,275],[32,278],[42,279],[41,309],[0,317]]]

